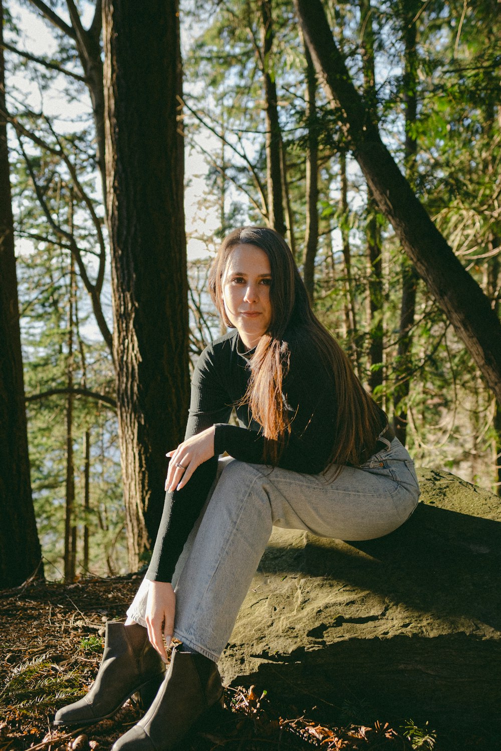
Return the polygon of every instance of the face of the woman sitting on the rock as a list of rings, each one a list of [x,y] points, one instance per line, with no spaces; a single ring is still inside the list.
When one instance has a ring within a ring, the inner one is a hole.
[[[264,250],[248,243],[235,246],[223,274],[222,298],[229,321],[249,349],[270,326],[270,285],[270,261]]]

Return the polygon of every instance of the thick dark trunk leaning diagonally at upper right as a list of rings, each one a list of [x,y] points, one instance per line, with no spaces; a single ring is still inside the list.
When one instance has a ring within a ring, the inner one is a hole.
[[[382,213],[394,228],[487,384],[501,399],[501,324],[489,300],[463,268],[418,201],[370,122],[364,101],[333,40],[320,0],[294,0],[327,97],[343,110],[340,128]]]

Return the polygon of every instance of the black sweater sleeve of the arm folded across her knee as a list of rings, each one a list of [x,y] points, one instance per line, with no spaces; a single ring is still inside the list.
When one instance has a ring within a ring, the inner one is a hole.
[[[316,475],[329,463],[336,439],[337,398],[333,376],[314,352],[291,347],[282,397],[291,419],[291,433],[285,439],[277,466]],[[261,433],[216,424],[216,451],[227,451],[234,459],[265,464],[267,442]]]

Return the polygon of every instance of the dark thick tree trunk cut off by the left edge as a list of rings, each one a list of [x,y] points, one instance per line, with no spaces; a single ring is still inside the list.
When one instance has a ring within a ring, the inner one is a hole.
[[[5,110],[3,8],[0,0],[0,110]],[[24,402],[14,223],[7,128],[0,122],[0,589],[43,577]]]

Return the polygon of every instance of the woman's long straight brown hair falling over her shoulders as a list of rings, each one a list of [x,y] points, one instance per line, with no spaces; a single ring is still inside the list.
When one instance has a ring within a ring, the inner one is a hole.
[[[276,464],[288,433],[291,417],[285,405],[282,383],[289,367],[285,330],[294,328],[299,351],[314,349],[336,385],[337,426],[330,461],[337,465],[360,464],[382,430],[382,412],[361,385],[348,357],[336,339],[321,325],[309,304],[306,288],[294,257],[283,237],[261,227],[242,227],[225,237],[210,268],[209,289],[219,315],[233,326],[225,313],[222,283],[232,250],[254,245],[266,253],[271,267],[271,320],[250,359],[251,377],[243,402],[270,439],[264,457]],[[286,395],[285,395],[286,396]]]

